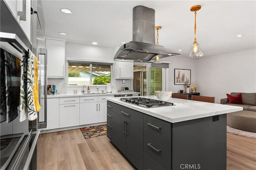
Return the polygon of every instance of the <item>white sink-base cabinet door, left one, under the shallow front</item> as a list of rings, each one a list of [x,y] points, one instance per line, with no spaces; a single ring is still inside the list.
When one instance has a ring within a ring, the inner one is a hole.
[[[98,123],[98,103],[80,103],[80,125],[92,123]]]

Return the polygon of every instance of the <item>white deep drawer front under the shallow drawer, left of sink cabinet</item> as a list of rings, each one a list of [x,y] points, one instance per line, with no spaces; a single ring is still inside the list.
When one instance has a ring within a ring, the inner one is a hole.
[[[60,128],[79,125],[79,104],[60,104]]]

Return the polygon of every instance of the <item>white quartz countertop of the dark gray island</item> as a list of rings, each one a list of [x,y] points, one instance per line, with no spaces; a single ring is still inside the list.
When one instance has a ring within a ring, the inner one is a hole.
[[[136,96],[133,96],[136,97]],[[142,98],[150,98],[158,100],[156,96],[139,96]],[[181,121],[188,121],[192,119],[199,119],[203,117],[209,117],[214,115],[226,114],[234,111],[243,110],[243,107],[230,106],[224,104],[214,104],[208,102],[198,102],[193,100],[184,100],[177,98],[170,98],[167,102],[172,102],[176,106],[144,108],[130,104],[128,102],[121,101],[120,98],[132,98],[132,97],[115,97],[106,98],[110,102],[120,104],[122,106],[140,111],[142,113],[157,117],[159,119],[176,123]]]

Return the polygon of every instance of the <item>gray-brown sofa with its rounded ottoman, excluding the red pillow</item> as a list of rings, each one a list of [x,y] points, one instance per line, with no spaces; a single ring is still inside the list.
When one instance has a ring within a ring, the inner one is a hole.
[[[238,93],[232,92],[235,96]],[[227,114],[227,125],[242,131],[256,133],[256,93],[242,93],[243,104],[228,104],[228,98],[220,99],[220,104],[243,107],[242,111]]]

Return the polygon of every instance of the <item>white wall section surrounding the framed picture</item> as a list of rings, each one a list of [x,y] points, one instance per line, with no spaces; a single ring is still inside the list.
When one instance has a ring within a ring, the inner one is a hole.
[[[164,61],[171,61],[169,64],[169,90],[172,93],[179,93],[180,90],[184,90],[185,85],[174,84],[174,69],[188,69],[191,70],[191,86],[198,86],[196,84],[196,62],[194,58],[173,56],[162,59]]]

